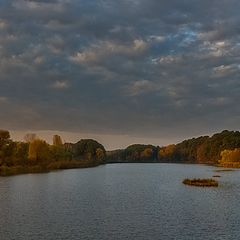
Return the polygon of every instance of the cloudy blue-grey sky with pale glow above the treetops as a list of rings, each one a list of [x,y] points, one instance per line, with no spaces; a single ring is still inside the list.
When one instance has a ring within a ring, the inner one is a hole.
[[[0,0],[0,128],[107,149],[240,122],[239,0]]]

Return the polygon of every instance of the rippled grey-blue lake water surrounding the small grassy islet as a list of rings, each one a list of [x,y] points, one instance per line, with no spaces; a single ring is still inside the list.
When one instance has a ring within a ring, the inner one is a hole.
[[[215,168],[112,164],[0,178],[0,239],[240,239],[240,172],[218,188],[185,177]]]

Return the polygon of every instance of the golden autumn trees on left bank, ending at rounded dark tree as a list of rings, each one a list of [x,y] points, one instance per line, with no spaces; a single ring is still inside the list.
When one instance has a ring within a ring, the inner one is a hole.
[[[19,142],[10,138],[9,131],[0,130],[0,175],[97,166],[104,163],[105,155],[103,145],[92,139],[63,143],[54,135],[48,144],[36,134],[27,134]]]

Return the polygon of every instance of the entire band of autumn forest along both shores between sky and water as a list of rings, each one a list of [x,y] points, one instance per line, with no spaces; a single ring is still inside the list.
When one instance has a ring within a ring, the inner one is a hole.
[[[240,167],[240,132],[224,130],[168,146],[133,144],[126,149],[106,151],[93,139],[63,143],[58,135],[52,144],[27,134],[13,141],[0,130],[0,176],[48,172],[58,169],[94,167],[105,163],[204,163]]]

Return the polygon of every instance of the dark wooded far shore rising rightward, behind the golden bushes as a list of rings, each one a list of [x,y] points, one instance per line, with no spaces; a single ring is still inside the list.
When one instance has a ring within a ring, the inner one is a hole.
[[[131,145],[126,149],[107,152],[107,161],[216,164],[222,159],[224,150],[233,151],[238,148],[240,148],[240,132],[224,130],[211,137],[201,136],[163,147]]]

